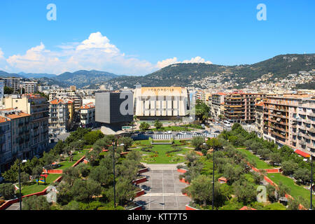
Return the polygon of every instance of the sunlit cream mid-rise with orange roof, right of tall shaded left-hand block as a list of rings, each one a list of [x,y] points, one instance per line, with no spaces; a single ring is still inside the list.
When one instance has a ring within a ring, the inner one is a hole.
[[[49,104],[49,132],[59,134],[69,130],[68,103],[63,99],[53,99]]]

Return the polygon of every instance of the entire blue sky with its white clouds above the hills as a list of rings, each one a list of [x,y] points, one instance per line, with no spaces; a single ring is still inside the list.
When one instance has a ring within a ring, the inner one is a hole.
[[[48,21],[48,3],[57,20]],[[267,20],[258,21],[258,3]],[[144,75],[177,62],[315,52],[315,1],[0,1],[0,70]]]

